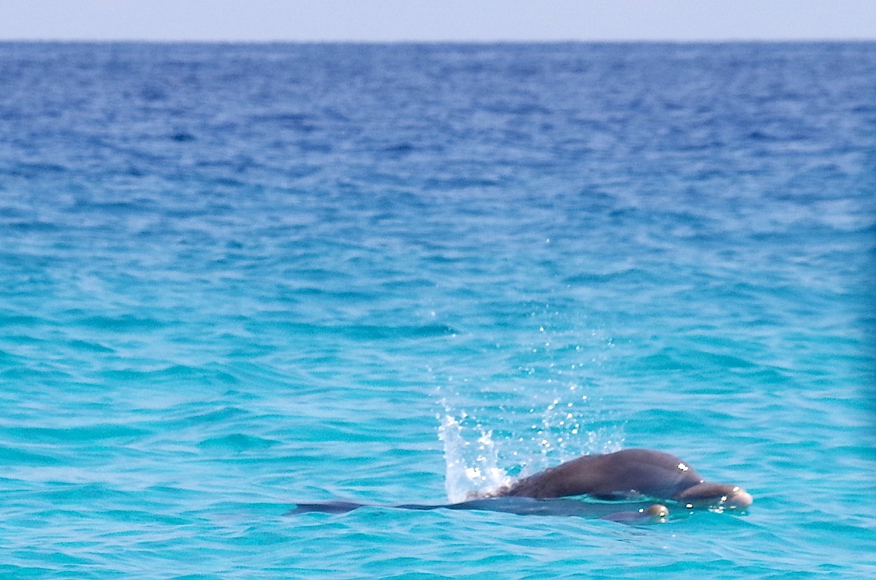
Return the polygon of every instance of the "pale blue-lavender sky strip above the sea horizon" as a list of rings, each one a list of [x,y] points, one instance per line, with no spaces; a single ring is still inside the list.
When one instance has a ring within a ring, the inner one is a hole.
[[[2,39],[876,39],[876,0],[0,0]]]

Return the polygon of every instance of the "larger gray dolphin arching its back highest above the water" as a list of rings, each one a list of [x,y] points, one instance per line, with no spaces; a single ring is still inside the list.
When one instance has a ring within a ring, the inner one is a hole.
[[[674,499],[688,507],[745,509],[752,496],[738,485],[712,484],[676,456],[652,449],[623,449],[581,456],[520,479],[489,494],[536,499],[589,495],[621,499],[637,495]]]

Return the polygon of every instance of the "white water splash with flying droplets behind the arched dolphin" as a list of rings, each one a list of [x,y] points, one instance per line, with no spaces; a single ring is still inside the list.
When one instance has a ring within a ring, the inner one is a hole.
[[[568,315],[548,305],[533,308],[531,316],[533,325],[509,344],[475,345],[486,371],[435,377],[451,501],[622,447],[625,423],[599,396],[611,336],[582,334]]]

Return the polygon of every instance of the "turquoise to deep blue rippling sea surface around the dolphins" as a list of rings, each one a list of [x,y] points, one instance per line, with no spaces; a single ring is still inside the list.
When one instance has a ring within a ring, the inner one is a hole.
[[[0,44],[0,576],[874,577],[874,288],[876,44]]]

